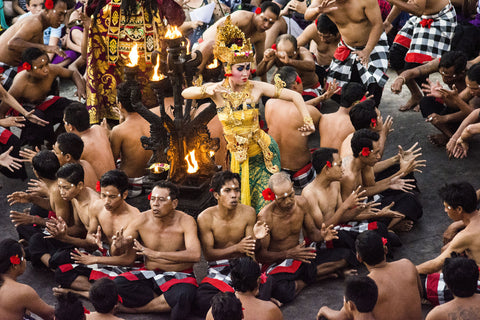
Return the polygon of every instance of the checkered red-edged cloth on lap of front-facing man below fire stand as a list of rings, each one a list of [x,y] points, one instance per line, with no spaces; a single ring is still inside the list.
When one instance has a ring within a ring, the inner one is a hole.
[[[183,272],[141,269],[122,273],[119,277],[124,277],[129,281],[153,279],[162,292],[166,292],[177,283],[188,283],[198,287],[192,269]]]

